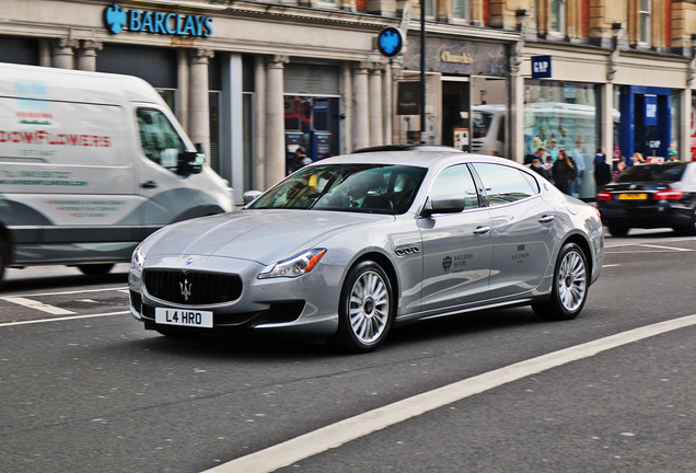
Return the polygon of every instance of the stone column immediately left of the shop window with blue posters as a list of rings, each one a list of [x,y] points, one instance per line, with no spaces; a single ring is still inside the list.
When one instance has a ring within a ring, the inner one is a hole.
[[[283,69],[288,56],[276,55],[266,62],[266,186],[286,176],[286,125]]]

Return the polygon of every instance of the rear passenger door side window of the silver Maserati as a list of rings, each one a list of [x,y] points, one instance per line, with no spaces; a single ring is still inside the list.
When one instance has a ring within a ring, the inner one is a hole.
[[[525,173],[518,169],[491,163],[475,163],[474,169],[484,183],[491,207],[531,197],[538,192]]]

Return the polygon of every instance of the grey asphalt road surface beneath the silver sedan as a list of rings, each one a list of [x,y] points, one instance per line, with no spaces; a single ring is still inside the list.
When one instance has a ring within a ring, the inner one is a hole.
[[[127,265],[10,270],[0,471],[696,471],[696,239],[606,246],[575,321],[469,314],[398,328],[362,356],[146,332],[127,313]],[[656,335],[665,321],[684,326]]]

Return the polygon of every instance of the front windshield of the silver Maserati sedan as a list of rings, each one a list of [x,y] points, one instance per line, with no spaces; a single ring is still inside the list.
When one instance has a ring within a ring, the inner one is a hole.
[[[309,166],[281,181],[247,208],[404,214],[426,172],[425,168],[385,164]]]

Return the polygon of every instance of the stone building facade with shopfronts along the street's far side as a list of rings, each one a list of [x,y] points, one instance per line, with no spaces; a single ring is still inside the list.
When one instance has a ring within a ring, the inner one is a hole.
[[[0,61],[146,79],[239,203],[300,146],[314,160],[425,141],[523,161],[543,143],[588,170],[598,149],[696,152],[693,1],[422,0],[422,45],[420,5],[0,0]],[[392,58],[376,47],[386,26],[405,38]],[[591,176],[576,192],[591,197]]]

